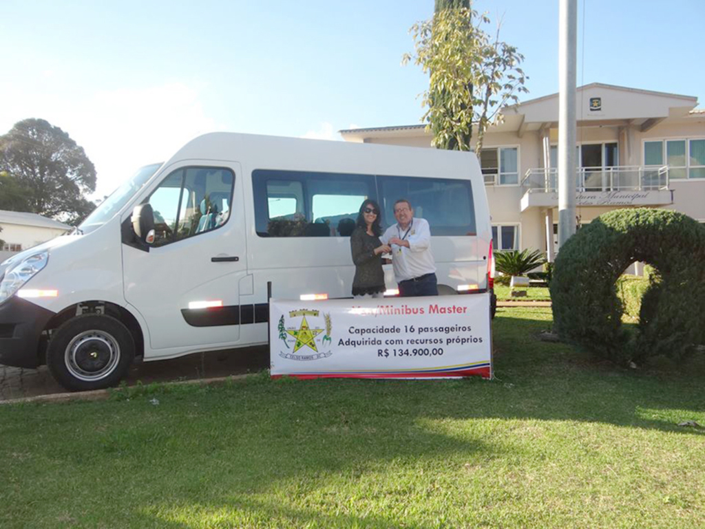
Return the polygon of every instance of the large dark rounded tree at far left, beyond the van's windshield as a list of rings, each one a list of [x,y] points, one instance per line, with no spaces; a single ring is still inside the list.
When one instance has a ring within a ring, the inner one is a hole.
[[[87,215],[84,194],[95,190],[95,167],[82,147],[46,120],[20,121],[0,136],[0,170],[24,189],[29,211],[74,221]]]

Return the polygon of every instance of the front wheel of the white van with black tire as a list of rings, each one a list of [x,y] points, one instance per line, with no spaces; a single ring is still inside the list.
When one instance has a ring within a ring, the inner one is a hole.
[[[128,328],[111,316],[85,314],[54,331],[47,366],[67,390],[99,390],[116,385],[135,356]]]

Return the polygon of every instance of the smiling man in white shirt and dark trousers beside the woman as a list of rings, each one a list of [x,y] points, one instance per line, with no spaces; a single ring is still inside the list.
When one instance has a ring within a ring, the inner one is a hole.
[[[431,255],[431,230],[423,218],[414,218],[406,199],[394,203],[397,223],[379,237],[392,248],[392,267],[402,297],[437,296],[436,263]]]

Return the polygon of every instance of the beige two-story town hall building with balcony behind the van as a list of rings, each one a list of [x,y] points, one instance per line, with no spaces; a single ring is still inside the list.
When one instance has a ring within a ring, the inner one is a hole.
[[[578,225],[612,209],[674,209],[705,222],[705,110],[697,98],[593,83],[577,89]],[[341,130],[350,142],[431,147],[424,125]],[[475,132],[473,137],[477,137]],[[496,249],[558,239],[558,94],[509,106],[480,154]]]

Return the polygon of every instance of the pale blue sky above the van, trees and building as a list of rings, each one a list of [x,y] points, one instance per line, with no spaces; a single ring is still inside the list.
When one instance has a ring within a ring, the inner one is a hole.
[[[419,123],[427,77],[400,60],[433,4],[1,0],[0,134],[24,118],[63,128],[96,164],[102,196],[203,132],[339,139]],[[558,0],[474,4],[526,56],[524,99],[557,92]],[[578,0],[577,84],[705,106],[703,20],[702,0]]]

